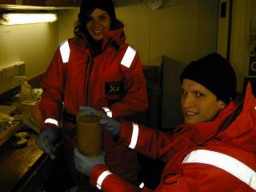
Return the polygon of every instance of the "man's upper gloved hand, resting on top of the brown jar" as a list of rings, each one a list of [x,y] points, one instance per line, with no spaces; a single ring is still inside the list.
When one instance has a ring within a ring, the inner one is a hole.
[[[80,110],[82,110],[86,115],[94,114],[98,116],[100,118],[99,123],[102,125],[103,130],[109,130],[114,136],[120,134],[121,123],[114,120],[114,118],[110,118],[101,110],[96,110],[91,106],[80,106]]]

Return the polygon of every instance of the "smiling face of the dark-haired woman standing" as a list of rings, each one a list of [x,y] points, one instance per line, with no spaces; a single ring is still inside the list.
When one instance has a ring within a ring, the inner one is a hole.
[[[95,41],[102,40],[104,33],[110,30],[110,15],[105,10],[96,8],[86,22],[86,30]]]

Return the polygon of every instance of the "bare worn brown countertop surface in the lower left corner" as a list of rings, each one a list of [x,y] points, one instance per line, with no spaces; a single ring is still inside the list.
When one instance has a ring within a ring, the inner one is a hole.
[[[27,146],[14,148],[13,138],[0,146],[0,191],[11,191],[15,186],[30,177],[43,152],[35,143],[36,134],[30,131]]]

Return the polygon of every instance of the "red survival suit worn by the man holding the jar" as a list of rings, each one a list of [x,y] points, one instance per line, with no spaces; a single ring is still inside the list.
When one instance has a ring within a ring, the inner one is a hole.
[[[150,158],[166,162],[154,191],[211,192],[256,190],[256,99],[247,87],[241,104],[230,102],[213,122],[184,124],[165,134],[122,122],[120,139]],[[140,189],[95,166],[90,182],[102,191],[152,191]]]

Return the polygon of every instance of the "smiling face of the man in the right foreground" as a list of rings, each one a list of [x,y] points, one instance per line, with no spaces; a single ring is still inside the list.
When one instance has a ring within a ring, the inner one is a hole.
[[[182,81],[181,102],[185,123],[212,121],[225,107],[205,86],[186,78]]]

